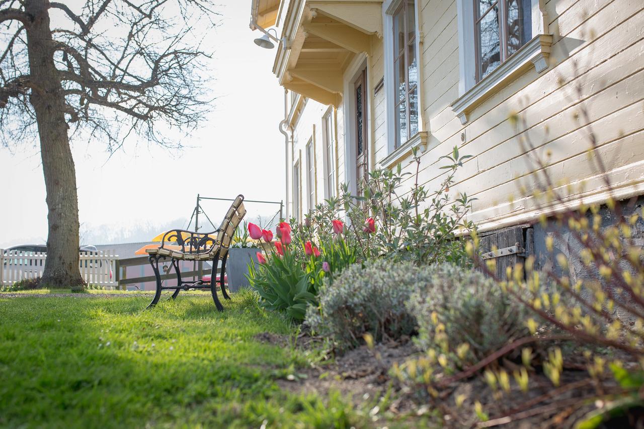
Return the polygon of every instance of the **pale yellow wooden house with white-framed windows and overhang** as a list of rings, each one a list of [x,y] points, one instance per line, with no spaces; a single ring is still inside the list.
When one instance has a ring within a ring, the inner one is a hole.
[[[252,0],[269,28],[290,216],[415,146],[430,188],[472,155],[452,192],[480,231],[538,218],[536,158],[571,202],[607,197],[598,153],[618,198],[644,194],[642,0]]]

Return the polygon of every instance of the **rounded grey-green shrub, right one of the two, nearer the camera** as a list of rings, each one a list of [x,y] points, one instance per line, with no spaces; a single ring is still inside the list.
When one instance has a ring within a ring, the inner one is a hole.
[[[423,350],[445,354],[462,366],[530,335],[529,311],[494,280],[448,263],[428,273],[406,304],[418,320],[415,341]]]

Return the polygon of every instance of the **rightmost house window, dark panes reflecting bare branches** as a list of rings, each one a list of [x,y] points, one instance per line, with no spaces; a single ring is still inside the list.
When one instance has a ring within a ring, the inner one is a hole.
[[[531,0],[472,1],[478,82],[532,38]]]

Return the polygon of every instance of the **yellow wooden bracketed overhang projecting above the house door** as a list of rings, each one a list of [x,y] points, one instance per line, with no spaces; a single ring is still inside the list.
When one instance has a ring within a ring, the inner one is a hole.
[[[339,106],[346,66],[382,37],[381,0],[292,0],[273,72],[288,90]]]

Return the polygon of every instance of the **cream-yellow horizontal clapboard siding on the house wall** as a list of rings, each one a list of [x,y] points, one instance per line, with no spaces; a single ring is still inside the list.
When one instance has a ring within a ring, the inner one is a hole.
[[[603,186],[589,165],[601,156],[616,188],[644,187],[644,2],[642,0],[547,0],[545,32],[553,35],[549,67],[529,68],[491,91],[461,124],[450,104],[459,97],[459,34],[455,0],[418,0],[423,37],[420,46],[422,112],[428,131],[421,156],[419,182],[437,189],[446,172],[443,155],[453,147],[472,155],[455,175],[453,196],[466,192],[478,198],[472,220],[484,229],[525,222],[535,216],[531,193],[538,181],[535,157],[549,154],[547,171],[566,198],[600,195]],[[385,28],[385,32],[390,29]],[[386,91],[374,93],[384,76],[383,39],[372,38],[368,59],[370,148],[372,167],[388,155]],[[387,79],[387,77],[384,77]],[[346,95],[345,95],[346,97]],[[296,129],[296,153],[316,124],[317,171],[323,177],[322,115],[326,106],[309,100]],[[587,117],[575,119],[585,109]],[[337,110],[337,170],[345,181],[343,106]],[[518,115],[517,127],[511,119]],[[597,145],[588,152],[594,131]],[[308,131],[307,131],[308,130]],[[464,137],[464,138],[463,138]],[[532,147],[522,144],[529,140]],[[592,158],[595,157],[595,158]],[[409,159],[405,171],[415,172]],[[303,196],[305,169],[303,164]],[[415,178],[405,184],[412,186]],[[321,182],[320,182],[321,183]],[[583,184],[583,186],[582,186]],[[323,197],[318,186],[318,201]],[[638,188],[639,189],[639,188]],[[512,196],[513,203],[508,200]],[[599,198],[599,197],[598,197]],[[305,211],[306,198],[303,198]]]

